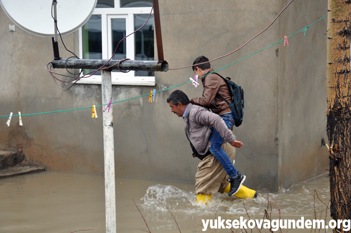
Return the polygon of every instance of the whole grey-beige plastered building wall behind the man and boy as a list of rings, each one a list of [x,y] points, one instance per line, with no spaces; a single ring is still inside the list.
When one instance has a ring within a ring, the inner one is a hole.
[[[308,3],[307,3],[308,2]],[[217,70],[266,48],[326,15],[327,1],[294,1],[262,35],[238,52],[211,63]],[[239,48],[261,32],[287,1],[159,0],[164,59],[169,68],[210,60]],[[101,85],[76,84],[61,91],[45,65],[52,61],[51,38],[31,35],[0,10],[0,116],[41,113],[101,105]],[[245,185],[272,190],[316,176],[327,168],[325,52],[326,21],[289,38],[289,47],[274,45],[218,73],[244,88],[243,124],[233,133],[244,143],[236,168],[247,175]],[[63,37],[78,53],[78,33]],[[70,57],[60,44],[62,58]],[[64,70],[56,70],[60,73]],[[189,81],[191,68],[156,72],[156,86],[113,86],[113,102],[147,95]],[[62,85],[62,84],[60,84]],[[66,87],[63,85],[63,87]],[[184,122],[170,113],[168,95],[183,90],[189,98],[202,86],[185,84],[113,105],[116,175],[194,182],[197,158],[191,156]],[[105,104],[105,103],[104,103]],[[102,108],[0,118],[0,149],[20,148],[48,170],[103,174]]]

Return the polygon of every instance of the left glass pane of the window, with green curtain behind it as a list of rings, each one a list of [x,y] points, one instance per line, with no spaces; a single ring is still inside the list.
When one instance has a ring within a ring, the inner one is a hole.
[[[83,59],[102,59],[101,15],[93,15],[83,25]],[[91,70],[89,70],[91,71]],[[89,72],[84,70],[84,74]],[[95,75],[100,75],[100,71]]]

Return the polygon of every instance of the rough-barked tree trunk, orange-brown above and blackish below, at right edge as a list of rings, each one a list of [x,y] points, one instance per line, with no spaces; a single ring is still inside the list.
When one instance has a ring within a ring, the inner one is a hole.
[[[328,0],[327,136],[330,215],[351,219],[351,0]],[[334,229],[342,232],[342,224]]]

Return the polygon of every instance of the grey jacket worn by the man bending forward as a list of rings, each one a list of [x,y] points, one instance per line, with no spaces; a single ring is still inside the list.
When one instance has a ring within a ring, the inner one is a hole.
[[[203,155],[209,150],[213,128],[217,129],[225,142],[232,144],[235,141],[235,136],[232,131],[227,128],[223,119],[218,114],[210,112],[202,106],[190,103],[188,114],[183,120],[186,122],[185,133],[199,154]]]

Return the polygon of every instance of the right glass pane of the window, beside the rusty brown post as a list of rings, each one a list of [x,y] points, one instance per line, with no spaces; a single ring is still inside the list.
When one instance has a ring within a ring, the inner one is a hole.
[[[147,17],[148,15],[134,15],[134,30],[139,29],[145,23]],[[151,15],[145,26],[134,35],[135,60],[154,61],[153,30],[153,15]],[[154,76],[154,72],[135,71],[135,76]]]

